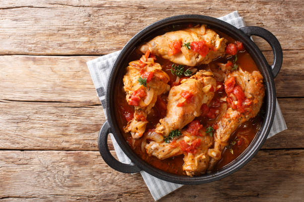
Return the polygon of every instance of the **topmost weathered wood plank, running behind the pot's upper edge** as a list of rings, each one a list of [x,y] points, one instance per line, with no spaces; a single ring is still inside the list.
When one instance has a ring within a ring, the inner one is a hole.
[[[248,26],[273,32],[284,50],[304,49],[302,0],[18,0],[0,7],[0,54],[106,54],[162,18],[189,13],[220,17],[234,10]],[[263,40],[256,43],[270,50]]]

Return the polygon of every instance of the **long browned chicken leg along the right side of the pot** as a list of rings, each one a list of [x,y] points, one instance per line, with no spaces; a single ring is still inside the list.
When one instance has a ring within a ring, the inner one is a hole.
[[[221,159],[224,148],[228,145],[230,135],[243,122],[253,118],[259,112],[263,98],[265,95],[265,88],[263,85],[263,76],[258,71],[249,73],[247,71],[233,71],[228,74],[235,77],[235,81],[240,85],[244,91],[247,99],[252,101],[251,105],[245,109],[244,113],[229,107],[225,115],[217,123],[218,129],[215,133],[214,148],[208,151],[211,156],[211,161],[208,170],[212,170],[216,163]]]

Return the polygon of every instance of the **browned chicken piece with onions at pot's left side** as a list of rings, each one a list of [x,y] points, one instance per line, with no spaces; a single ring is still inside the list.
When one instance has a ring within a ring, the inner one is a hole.
[[[147,83],[147,88],[141,85],[138,81],[141,76],[141,70],[144,68],[145,71],[153,72],[152,80]],[[143,136],[148,121],[146,120],[147,115],[151,112],[151,108],[154,106],[157,96],[168,91],[169,76],[161,70],[161,66],[158,63],[148,64],[145,67],[139,66],[139,60],[132,61],[127,67],[127,73],[123,78],[124,90],[127,93],[126,100],[128,103],[131,100],[132,93],[143,88],[147,96],[142,98],[140,104],[135,106],[134,118],[128,122],[124,131],[131,132],[134,139],[138,139]],[[145,103],[145,99],[149,101]]]

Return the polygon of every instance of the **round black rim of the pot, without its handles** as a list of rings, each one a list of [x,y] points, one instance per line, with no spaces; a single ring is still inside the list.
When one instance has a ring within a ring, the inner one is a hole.
[[[242,152],[236,159],[231,161],[228,165],[224,166],[218,171],[214,171],[210,174],[204,174],[201,176],[182,176],[176,175],[172,173],[167,173],[160,169],[157,169],[141,159],[132,149],[129,147],[127,142],[125,141],[121,131],[118,127],[115,111],[114,111],[114,90],[116,86],[116,77],[119,76],[119,70],[124,60],[128,57],[128,53],[135,49],[145,38],[149,36],[149,34],[155,32],[156,30],[162,29],[164,27],[173,25],[173,24],[182,24],[182,23],[200,23],[207,24],[212,28],[215,28],[228,36],[232,37],[235,40],[243,42],[246,50],[253,58],[254,62],[259,68],[259,71],[262,73],[264,77],[264,85],[265,85],[265,100],[266,100],[266,116],[261,125],[259,132],[255,135],[251,144],[247,147],[247,149]],[[141,30],[137,33],[121,50],[120,54],[117,56],[116,61],[111,69],[109,74],[109,79],[106,87],[106,114],[108,122],[111,126],[111,133],[114,135],[115,140],[118,145],[121,147],[123,152],[131,159],[136,166],[138,166],[141,170],[146,171],[147,173],[168,181],[172,183],[179,184],[203,184],[212,182],[215,180],[222,179],[233,172],[237,171],[241,167],[243,167],[248,161],[250,161],[255,154],[262,147],[265,142],[275,115],[275,107],[276,107],[276,93],[275,93],[275,85],[274,85],[274,77],[272,75],[271,70],[269,69],[269,64],[267,63],[264,55],[259,50],[259,48],[254,44],[251,39],[245,35],[240,29],[235,28],[234,26],[228,24],[225,21],[219,20],[217,18],[213,18],[205,15],[176,15],[172,17],[168,17],[157,22],[152,23],[148,27]]]

